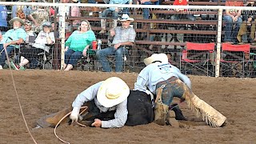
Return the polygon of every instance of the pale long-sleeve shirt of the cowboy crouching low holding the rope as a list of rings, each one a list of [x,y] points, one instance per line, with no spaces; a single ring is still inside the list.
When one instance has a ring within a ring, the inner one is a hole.
[[[82,93],[78,94],[77,98],[75,98],[74,102],[72,103],[72,106],[80,109],[84,102],[94,100],[95,105],[98,107],[99,110],[101,110],[102,113],[105,113],[106,111],[116,110],[116,112],[114,113],[114,119],[111,119],[109,121],[102,121],[103,128],[114,128],[124,126],[128,114],[127,98],[124,102],[121,102],[116,106],[104,107],[98,102],[96,97],[100,86],[102,86],[102,82],[98,82],[93,86],[90,86],[86,90],[82,91]]]

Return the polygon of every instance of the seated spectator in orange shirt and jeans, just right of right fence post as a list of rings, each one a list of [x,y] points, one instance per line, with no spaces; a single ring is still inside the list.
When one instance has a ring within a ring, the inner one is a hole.
[[[225,6],[243,6],[243,2],[226,0]],[[224,42],[237,42],[238,30],[242,24],[241,10],[226,10],[223,20],[226,22]]]

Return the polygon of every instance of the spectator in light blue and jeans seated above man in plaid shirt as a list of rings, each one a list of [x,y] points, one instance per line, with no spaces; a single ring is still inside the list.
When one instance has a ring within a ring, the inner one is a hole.
[[[110,0],[110,4],[132,4],[132,0]],[[122,12],[122,8],[118,7],[110,7],[106,10],[103,10],[102,12],[102,18],[101,19],[101,27],[102,30],[99,32],[100,34],[106,33],[106,18],[108,17],[108,14],[112,14],[113,17],[113,26],[112,28],[115,28],[118,26],[118,14]]]

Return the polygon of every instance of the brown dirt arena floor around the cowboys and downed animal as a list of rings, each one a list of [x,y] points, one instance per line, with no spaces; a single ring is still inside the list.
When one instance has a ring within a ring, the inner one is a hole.
[[[26,70],[13,71],[18,97],[26,122],[38,143],[62,143],[53,128],[34,129],[38,118],[70,106],[88,86],[118,76],[134,88],[138,74],[110,74],[84,71]],[[219,110],[229,125],[210,128],[200,125],[186,107],[180,105],[190,124],[181,128],[158,126],[124,126],[119,129],[62,125],[57,134],[70,143],[255,143],[256,81],[252,78],[207,78],[190,76],[194,94]],[[26,130],[9,70],[0,71],[0,143],[33,143]]]

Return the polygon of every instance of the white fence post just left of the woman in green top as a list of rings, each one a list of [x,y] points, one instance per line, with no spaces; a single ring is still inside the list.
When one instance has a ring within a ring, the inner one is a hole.
[[[66,23],[66,6],[60,6],[60,14],[61,17],[59,18],[59,22],[60,22],[60,27],[61,27],[61,39],[62,39],[62,45],[61,45],[61,70],[64,67],[64,50],[65,50],[65,23]]]

